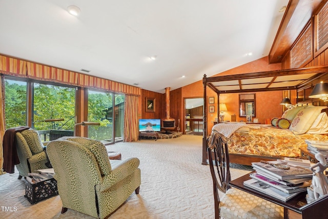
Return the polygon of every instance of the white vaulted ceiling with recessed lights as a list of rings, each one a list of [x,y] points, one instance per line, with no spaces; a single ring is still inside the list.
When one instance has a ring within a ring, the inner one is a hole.
[[[0,0],[0,53],[164,93],[267,56],[287,4]]]

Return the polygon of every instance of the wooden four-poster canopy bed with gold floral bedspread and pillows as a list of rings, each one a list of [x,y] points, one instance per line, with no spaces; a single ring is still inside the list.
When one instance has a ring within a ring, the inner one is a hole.
[[[299,107],[294,110],[289,110],[289,112],[285,111],[288,115],[284,114],[282,117],[289,116],[289,119],[291,119],[292,114],[295,116],[299,110],[303,110],[305,112],[303,113],[302,111],[302,114],[306,114],[310,111],[313,113],[315,111],[316,117],[313,118],[313,120],[315,120],[318,124],[323,123],[323,120],[328,120],[328,117],[322,117],[320,122],[319,118],[317,118],[319,115],[327,116],[327,108],[325,107],[327,106],[327,102],[323,102],[319,98],[311,99],[308,97],[313,89],[313,86],[320,81],[328,81],[328,66],[213,77],[207,77],[204,75],[202,79],[204,98],[202,164],[208,164],[207,139],[208,135],[211,134],[207,133],[207,110],[209,108],[207,102],[207,87],[217,93],[217,109],[219,109],[220,104],[219,95],[223,93],[254,93],[259,91],[296,90],[298,95],[297,105]],[[219,111],[217,117],[219,117]],[[303,121],[308,119],[308,117],[302,118]],[[287,125],[289,126],[292,122],[285,120],[284,118],[277,118],[275,122],[278,120],[279,125],[286,125],[286,123],[288,123]],[[306,122],[303,124],[306,124]],[[326,122],[325,125],[327,125]],[[230,131],[226,132],[226,137],[229,142],[231,163],[251,165],[252,162],[259,162],[260,160],[276,160],[277,158],[282,158],[284,156],[298,157],[300,154],[299,147],[304,145],[304,139],[310,138],[314,140],[328,141],[328,135],[317,134],[317,132],[314,131],[317,127],[312,126],[306,127],[306,131],[304,131],[304,125],[298,125],[298,127],[295,127],[295,129],[292,130],[283,128],[279,129],[273,126],[269,127],[257,124],[252,126],[245,123],[219,123],[213,127],[214,129],[222,129],[222,127],[226,127],[226,131]],[[308,132],[308,130],[312,130],[312,132]],[[270,142],[270,145],[265,144],[267,142]]]

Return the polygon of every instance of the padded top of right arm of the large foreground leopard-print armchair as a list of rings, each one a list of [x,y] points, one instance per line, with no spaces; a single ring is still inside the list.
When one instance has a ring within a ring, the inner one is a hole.
[[[103,177],[103,182],[95,186],[96,191],[102,192],[126,178],[139,167],[140,161],[136,157],[128,158],[114,166],[110,174]]]

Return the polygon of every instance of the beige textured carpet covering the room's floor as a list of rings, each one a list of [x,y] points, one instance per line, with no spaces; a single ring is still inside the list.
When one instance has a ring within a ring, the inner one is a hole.
[[[201,165],[201,140],[182,135],[107,146],[120,151],[122,160],[138,157],[141,169],[140,193],[133,193],[110,218],[214,218],[212,179],[209,166]],[[232,178],[249,171],[231,168]],[[17,174],[0,175],[0,218],[94,218],[73,210],[60,214],[59,195],[31,205]]]

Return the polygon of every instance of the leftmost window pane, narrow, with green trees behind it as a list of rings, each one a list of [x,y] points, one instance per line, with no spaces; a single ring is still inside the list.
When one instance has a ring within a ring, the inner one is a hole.
[[[6,129],[27,125],[27,82],[5,79]]]

